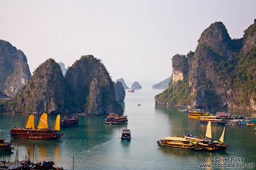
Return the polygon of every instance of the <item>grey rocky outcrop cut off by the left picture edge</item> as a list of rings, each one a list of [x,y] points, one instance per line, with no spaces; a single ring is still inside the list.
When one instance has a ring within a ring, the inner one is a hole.
[[[0,92],[14,97],[30,77],[25,54],[9,42],[0,40]]]

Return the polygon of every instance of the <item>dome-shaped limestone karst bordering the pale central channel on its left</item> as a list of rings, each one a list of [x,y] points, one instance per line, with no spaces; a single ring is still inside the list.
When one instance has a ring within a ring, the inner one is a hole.
[[[93,55],[82,56],[66,72],[69,90],[68,107],[71,112],[90,115],[122,114],[115,99],[114,82],[105,66]]]

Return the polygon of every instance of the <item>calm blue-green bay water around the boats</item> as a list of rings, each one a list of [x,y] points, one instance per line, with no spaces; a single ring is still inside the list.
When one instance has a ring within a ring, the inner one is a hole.
[[[121,130],[125,125],[106,125],[105,117],[79,116],[79,126],[62,129],[64,136],[58,140],[24,140],[11,139],[15,149],[8,154],[8,159],[15,159],[19,143],[19,160],[30,155],[35,143],[34,160],[53,160],[56,166],[71,170],[74,156],[75,170],[169,170],[199,169],[200,163],[234,163],[211,162],[211,157],[243,158],[240,163],[254,163],[256,166],[256,132],[250,126],[228,126],[224,142],[230,147],[225,152],[195,152],[181,149],[159,147],[156,141],[166,136],[182,135],[183,121],[185,134],[199,134],[199,119],[187,118],[178,112],[180,108],[155,106],[154,96],[162,90],[141,89],[134,93],[126,92],[124,104],[125,115],[128,115],[128,129],[131,130],[131,141],[121,141]],[[138,106],[141,104],[141,106]],[[229,113],[256,117],[254,112],[241,110],[214,109]],[[35,116],[35,126],[39,122]],[[48,117],[48,125],[53,127],[54,116]],[[10,140],[12,126],[25,127],[28,115],[0,115],[0,130],[4,138]],[[224,125],[212,125],[213,137],[219,139]],[[204,135],[206,124],[201,125]],[[0,153],[2,158],[2,153]],[[32,157],[30,157],[32,158]],[[235,162],[237,163],[237,162]]]

